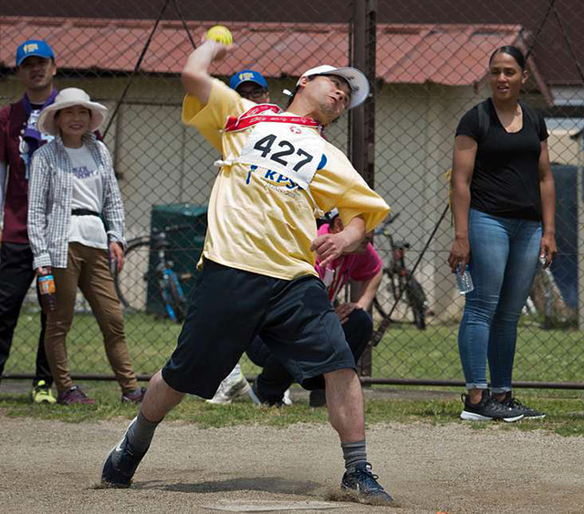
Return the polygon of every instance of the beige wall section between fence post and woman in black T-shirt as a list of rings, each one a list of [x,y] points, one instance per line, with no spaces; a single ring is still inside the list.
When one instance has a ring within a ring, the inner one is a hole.
[[[473,87],[430,84],[384,86],[377,96],[375,186],[393,211],[400,212],[392,233],[412,243],[410,267],[448,202],[445,173],[452,167],[455,128],[464,112],[482,98]],[[441,318],[458,316],[462,306],[446,265],[453,230],[448,211],[415,273],[431,309]],[[389,243],[377,244],[389,257]]]

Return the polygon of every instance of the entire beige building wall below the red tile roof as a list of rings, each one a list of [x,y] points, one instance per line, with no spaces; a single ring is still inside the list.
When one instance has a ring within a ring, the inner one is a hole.
[[[115,107],[127,78],[60,80],[58,87],[83,87],[89,95]],[[291,80],[270,80],[272,100],[285,105],[281,91]],[[17,98],[16,80],[0,81],[1,98]],[[485,98],[473,87],[385,85],[377,96],[376,190],[400,218],[392,226],[396,239],[412,243],[407,263],[422,251],[448,200],[444,177],[452,165],[454,130],[462,114]],[[129,238],[150,231],[154,204],[206,204],[217,153],[193,129],[181,123],[182,87],[177,77],[136,77],[106,142],[114,155],[127,211]],[[347,119],[327,130],[328,139],[347,147]],[[443,318],[460,314],[461,300],[446,266],[453,229],[450,213],[416,272],[429,294],[433,312]],[[377,240],[384,259],[389,245]]]

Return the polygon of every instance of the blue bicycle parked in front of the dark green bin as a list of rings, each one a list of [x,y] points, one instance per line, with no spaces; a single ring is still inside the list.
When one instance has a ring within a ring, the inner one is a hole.
[[[148,281],[153,271],[156,291],[162,301],[164,313],[171,321],[183,323],[187,300],[181,283],[193,278],[193,273],[177,273],[172,269],[174,263],[166,257],[166,252],[170,249],[166,234],[169,231],[190,228],[189,225],[170,225],[154,231],[152,237],[140,236],[128,242],[124,267],[120,273],[114,273],[116,292],[127,310],[134,313],[146,310]],[[153,270],[149,269],[152,252],[156,258]]]

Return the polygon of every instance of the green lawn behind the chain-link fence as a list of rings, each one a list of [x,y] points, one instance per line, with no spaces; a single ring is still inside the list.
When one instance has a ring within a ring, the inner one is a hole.
[[[34,370],[39,317],[23,312],[16,328],[6,373]],[[181,327],[148,314],[127,314],[126,335],[134,370],[151,375],[171,355]],[[373,350],[376,378],[462,379],[454,324],[430,324],[416,330],[412,324],[393,324]],[[584,381],[584,336],[574,330],[542,330],[521,324],[517,340],[515,380],[544,382]],[[77,314],[68,335],[71,373],[111,375],[99,327],[91,314]],[[246,374],[256,368],[244,357]]]

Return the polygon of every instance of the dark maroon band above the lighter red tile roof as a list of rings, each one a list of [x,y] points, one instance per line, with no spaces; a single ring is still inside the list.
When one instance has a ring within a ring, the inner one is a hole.
[[[166,19],[180,20],[176,6],[183,15],[196,23],[216,20],[247,22],[259,26],[265,22],[343,24],[353,13],[347,0],[177,0],[164,11]],[[534,43],[534,55],[548,85],[581,87],[582,77],[576,61],[584,62],[584,9],[582,0],[561,0],[554,4],[562,24],[554,13],[547,14],[550,0],[382,0],[377,2],[378,23],[391,24],[506,24],[519,25],[524,35]],[[0,15],[155,19],[161,2],[139,0],[58,0],[51,2],[0,2]],[[544,23],[544,19],[546,20]],[[231,23],[227,23],[230,26]],[[569,45],[568,45],[569,42]],[[2,32],[0,31],[0,46]],[[574,52],[575,56],[572,54]]]

